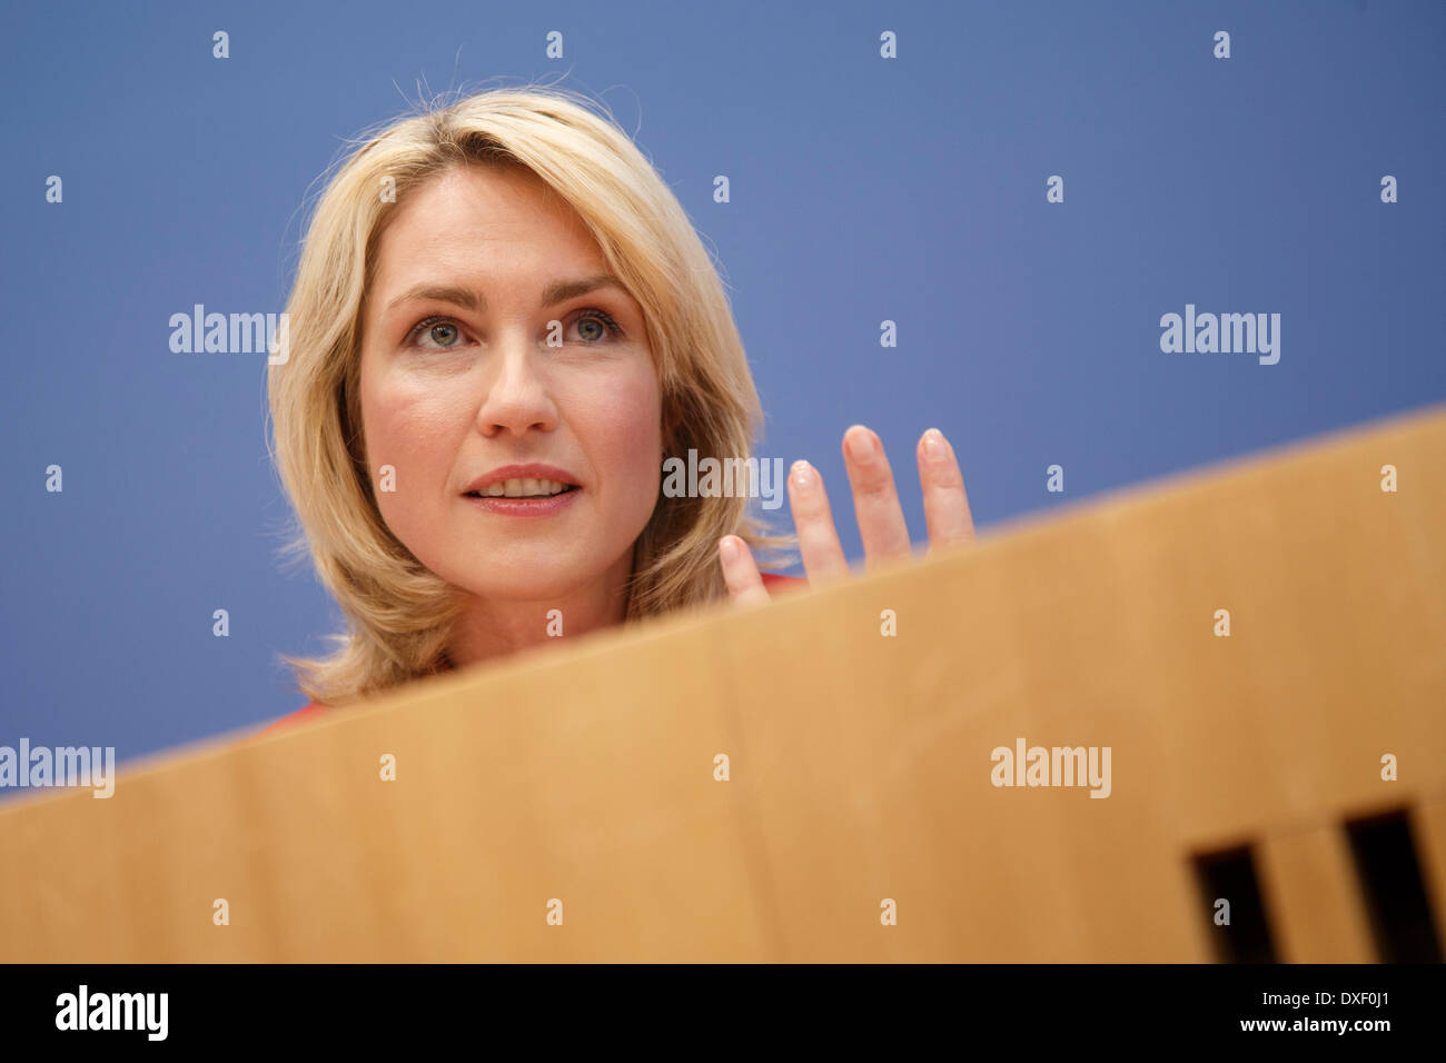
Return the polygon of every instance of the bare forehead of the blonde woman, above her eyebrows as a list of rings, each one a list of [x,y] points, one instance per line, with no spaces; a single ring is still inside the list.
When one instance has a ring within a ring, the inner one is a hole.
[[[403,195],[377,243],[377,286],[421,269],[603,265],[577,211],[525,166],[451,166]]]

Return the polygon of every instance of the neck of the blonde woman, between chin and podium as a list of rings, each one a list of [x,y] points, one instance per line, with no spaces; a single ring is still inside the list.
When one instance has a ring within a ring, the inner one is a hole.
[[[497,600],[473,597],[447,644],[453,668],[619,625],[628,615],[632,551],[591,583],[562,597]],[[552,612],[552,610],[558,612]],[[551,615],[551,619],[549,619]],[[561,635],[558,633],[561,632]]]

